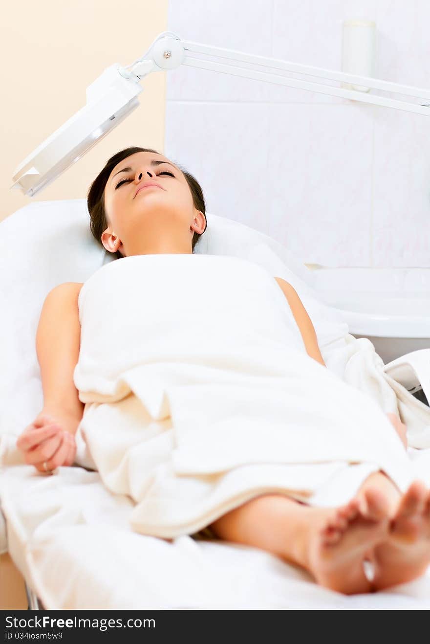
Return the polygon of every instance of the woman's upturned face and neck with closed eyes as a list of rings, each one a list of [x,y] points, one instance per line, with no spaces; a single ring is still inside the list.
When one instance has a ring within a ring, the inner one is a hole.
[[[159,187],[143,187],[152,182]],[[182,171],[154,152],[137,152],[113,168],[104,208],[108,226],[102,244],[126,257],[192,252],[194,231],[205,229],[205,217],[194,207]]]

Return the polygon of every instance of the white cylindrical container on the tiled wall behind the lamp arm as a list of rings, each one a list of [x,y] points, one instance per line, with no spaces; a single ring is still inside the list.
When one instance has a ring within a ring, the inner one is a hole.
[[[376,23],[373,20],[345,20],[342,31],[342,71],[359,76],[375,76]],[[342,82],[346,90],[370,88]]]

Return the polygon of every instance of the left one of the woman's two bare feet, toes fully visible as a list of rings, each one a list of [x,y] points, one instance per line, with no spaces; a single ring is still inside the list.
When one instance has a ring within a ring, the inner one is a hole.
[[[334,510],[310,540],[309,569],[317,583],[344,594],[372,591],[364,560],[388,530],[389,504],[377,489]]]

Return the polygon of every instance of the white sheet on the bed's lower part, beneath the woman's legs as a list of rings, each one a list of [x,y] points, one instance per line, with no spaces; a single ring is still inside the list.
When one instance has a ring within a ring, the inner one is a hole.
[[[430,450],[413,453],[427,478]],[[133,501],[79,466],[0,471],[8,548],[47,609],[428,609],[430,568],[415,582],[343,596],[256,548],[135,533]]]

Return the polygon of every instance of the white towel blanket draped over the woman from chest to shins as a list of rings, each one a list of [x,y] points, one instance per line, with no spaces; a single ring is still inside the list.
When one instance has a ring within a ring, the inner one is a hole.
[[[79,295],[78,464],[173,538],[265,493],[347,502],[411,462],[383,410],[310,358],[274,276],[203,254],[113,261]]]

